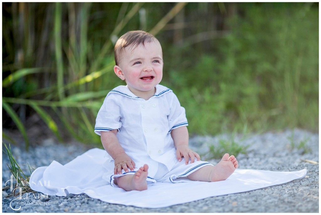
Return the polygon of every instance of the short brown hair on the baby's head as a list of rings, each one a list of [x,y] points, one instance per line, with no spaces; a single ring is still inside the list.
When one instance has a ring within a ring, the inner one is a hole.
[[[123,36],[121,36],[115,44],[114,53],[116,65],[118,65],[119,61],[121,60],[122,52],[126,47],[130,45],[136,47],[141,44],[144,45],[145,42],[150,43],[155,41],[159,42],[156,37],[145,31],[128,31]]]

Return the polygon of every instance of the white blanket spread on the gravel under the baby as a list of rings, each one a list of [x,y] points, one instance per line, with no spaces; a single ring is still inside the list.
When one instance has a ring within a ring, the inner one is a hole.
[[[158,182],[148,186],[144,191],[126,192],[121,188],[110,186],[102,179],[104,155],[104,150],[94,148],[65,165],[53,161],[48,167],[39,167],[30,176],[30,187],[34,191],[49,195],[66,196],[69,193],[85,193],[91,198],[107,203],[161,208],[212,196],[279,185],[303,178],[307,174],[305,169],[294,172],[237,169],[225,181]]]

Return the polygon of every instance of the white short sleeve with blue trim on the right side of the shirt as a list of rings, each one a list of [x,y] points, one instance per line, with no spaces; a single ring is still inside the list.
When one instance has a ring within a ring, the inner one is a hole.
[[[177,96],[174,93],[170,93],[170,114],[169,120],[169,132],[172,129],[179,128],[181,126],[188,126],[185,108],[182,107],[178,101]]]

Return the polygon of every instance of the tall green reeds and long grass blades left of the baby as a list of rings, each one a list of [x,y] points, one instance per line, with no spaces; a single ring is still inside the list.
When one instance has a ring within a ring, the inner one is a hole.
[[[144,3],[13,3],[4,6],[10,11],[9,7],[14,8],[16,4],[26,6],[20,15],[26,13],[28,19],[18,19],[15,14],[4,18],[4,53],[7,55],[3,74],[10,72],[2,82],[6,117],[11,118],[23,135],[27,149],[29,137],[26,127],[29,125],[24,123],[24,115],[29,112],[39,115],[61,142],[62,136],[68,133],[83,143],[102,147],[100,137],[94,133],[95,117],[108,91],[123,84],[113,73],[113,41],[110,38],[132,30],[128,28],[132,28],[133,20],[139,16],[139,9]],[[150,30],[155,35],[159,33],[185,4],[177,3],[164,17],[153,19],[155,28]],[[99,14],[100,10],[105,12]],[[42,11],[48,13],[43,14]],[[106,22],[105,16],[109,21]],[[39,20],[44,20],[46,25]],[[110,31],[106,23],[113,23],[114,29]],[[38,28],[35,24],[43,26]],[[23,31],[21,28],[24,26],[28,26],[30,31],[22,39],[15,33],[17,29]],[[10,34],[16,39],[12,40]],[[30,46],[38,37],[41,40],[37,43],[39,46]],[[13,42],[21,43],[25,48],[20,49]],[[45,44],[53,46],[45,47]],[[27,55],[32,52],[35,55],[42,53],[42,62]],[[25,57],[19,64],[15,62],[16,53]],[[30,68],[36,64],[45,66]]]

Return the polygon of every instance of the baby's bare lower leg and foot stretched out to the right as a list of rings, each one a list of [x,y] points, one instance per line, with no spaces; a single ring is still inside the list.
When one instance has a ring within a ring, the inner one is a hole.
[[[223,181],[238,168],[238,161],[234,155],[224,154],[221,161],[216,166],[205,166],[196,170],[187,178],[193,181]]]

